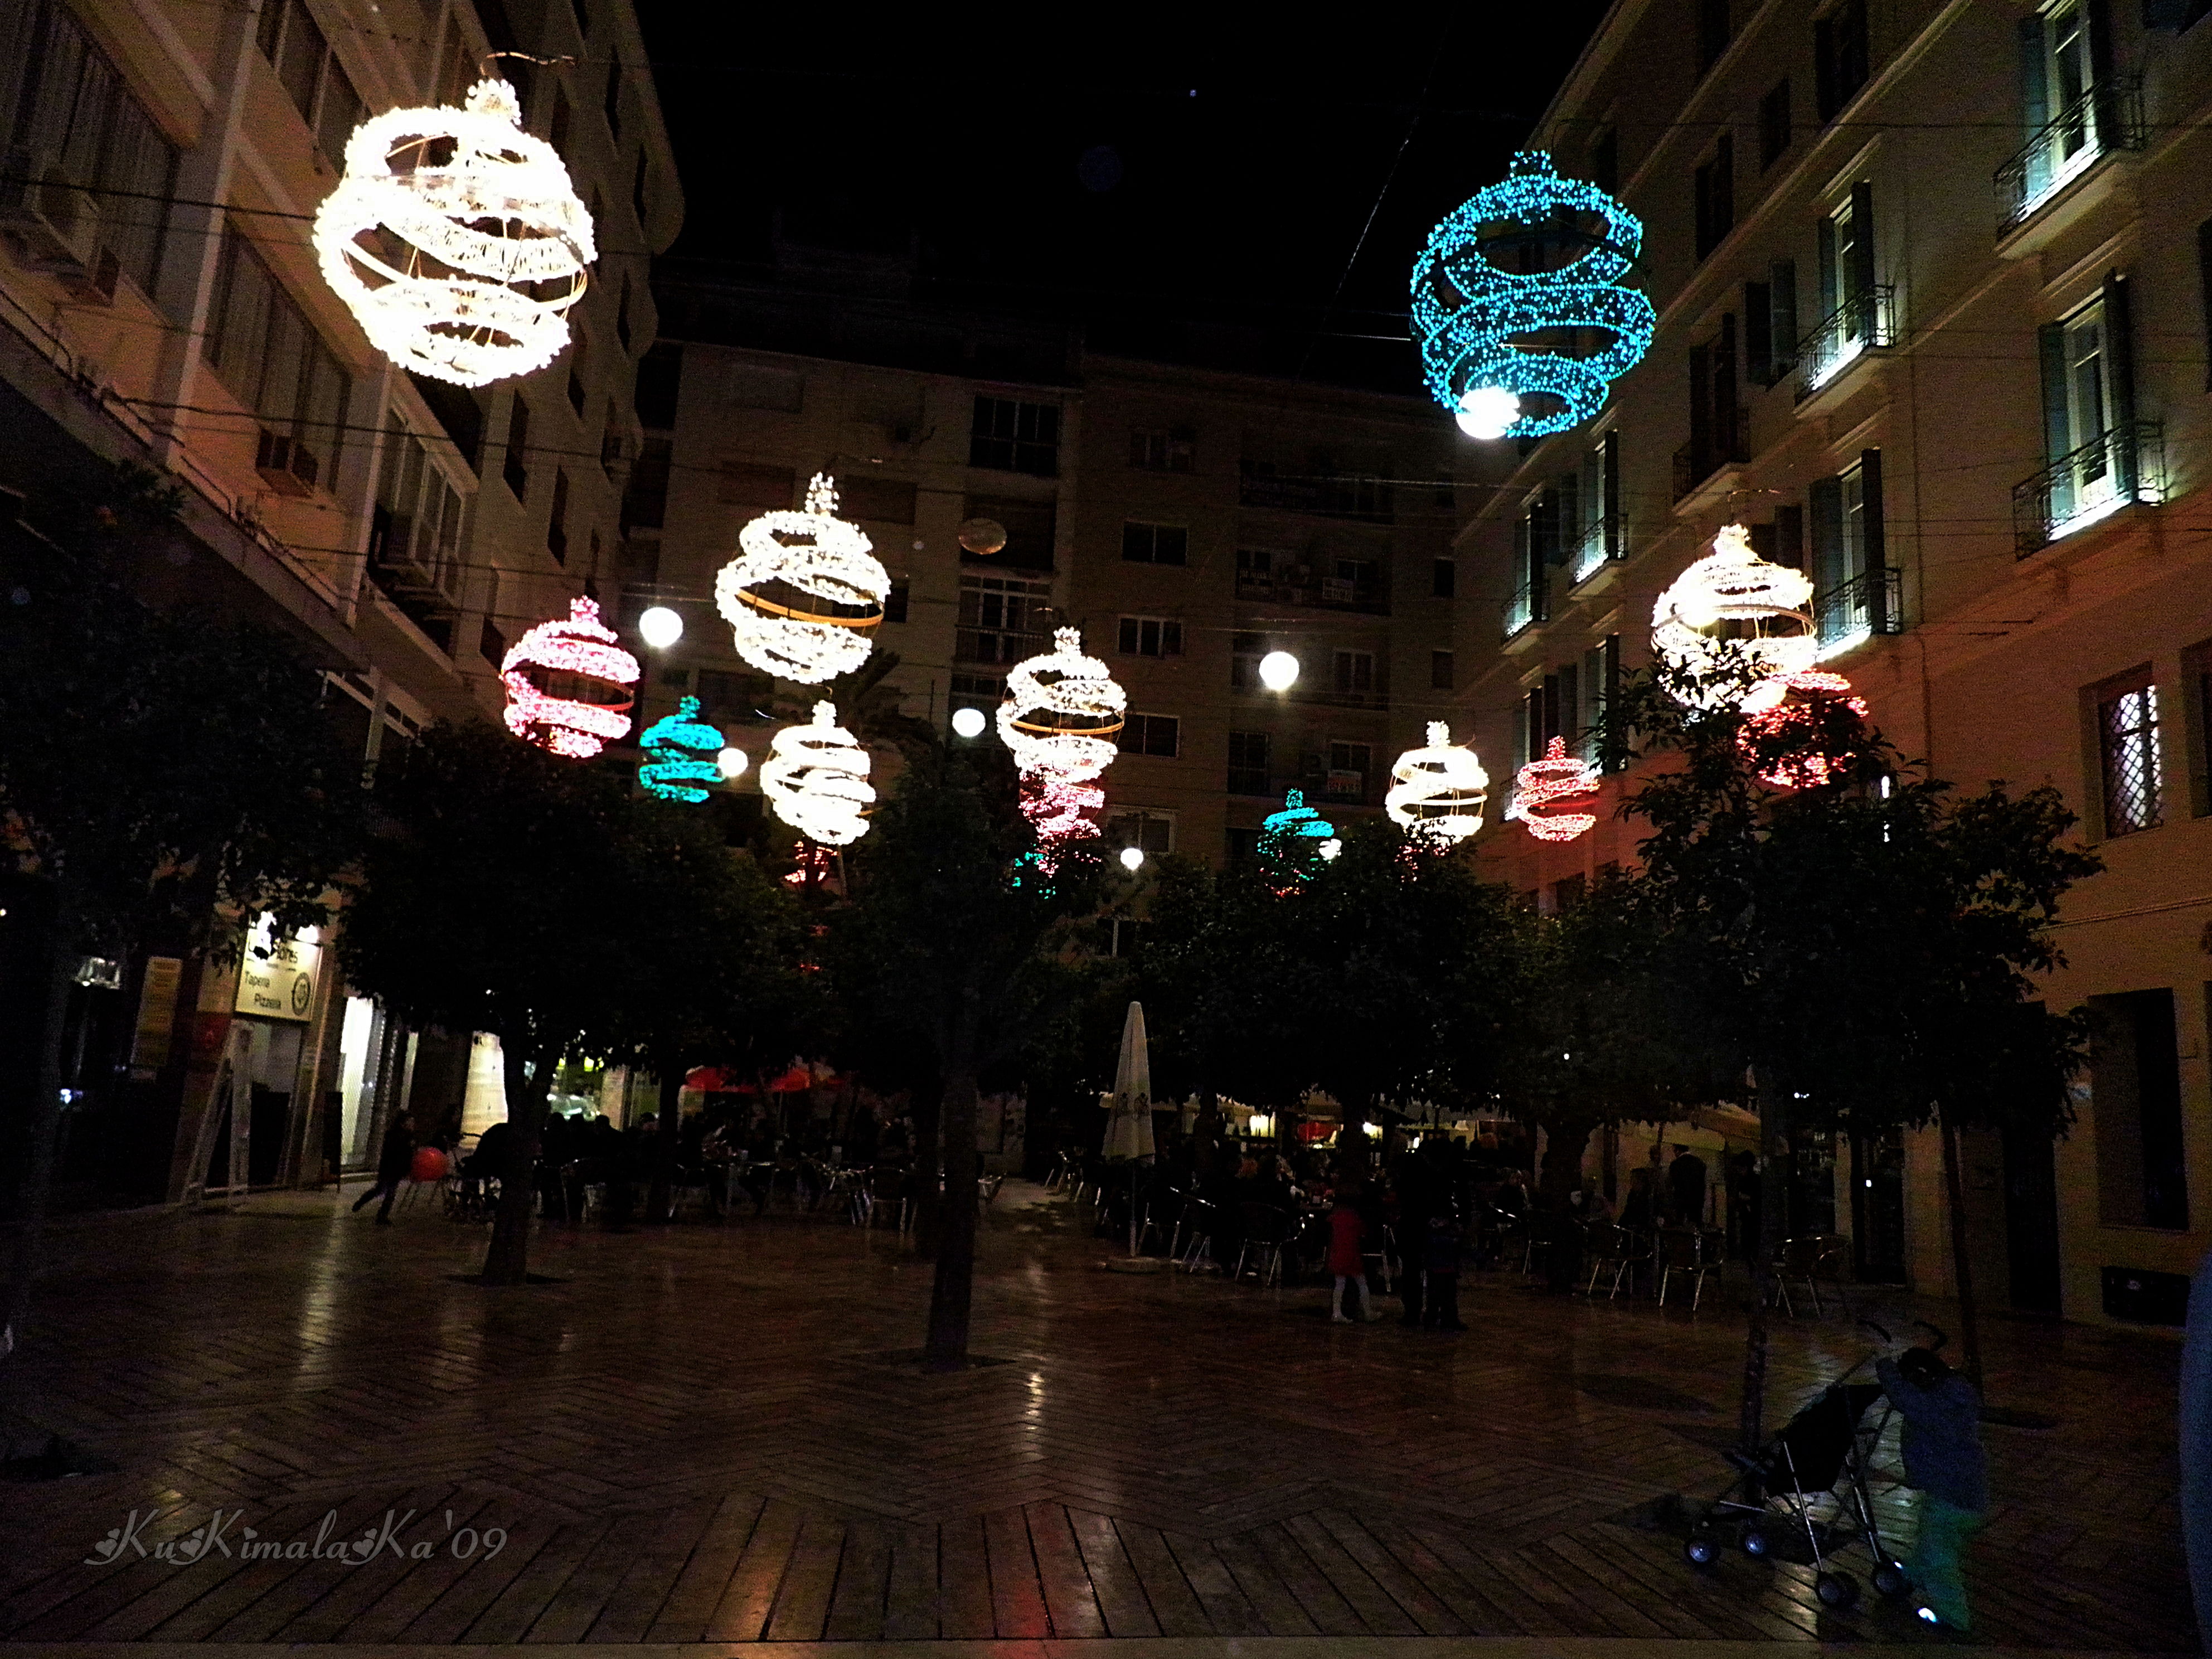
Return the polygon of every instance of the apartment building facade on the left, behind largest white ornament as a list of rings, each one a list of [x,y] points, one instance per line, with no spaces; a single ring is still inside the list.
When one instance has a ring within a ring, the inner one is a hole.
[[[460,104],[487,62],[568,161],[599,261],[573,345],[471,394],[369,345],[310,226],[363,117]],[[495,714],[507,641],[619,546],[646,270],[679,221],[628,0],[18,0],[0,9],[0,487],[35,498],[119,465],[179,484],[184,540],[148,597],[292,633],[374,763],[427,721]],[[197,1119],[230,1026],[254,1183],[372,1159],[400,1102],[431,1121],[458,1106],[467,1033],[349,998],[323,942],[296,971],[307,991],[279,1013],[228,962],[139,960],[88,991],[133,1002],[119,1024],[142,1040],[84,1079],[64,1175],[150,1197],[206,1179]]]

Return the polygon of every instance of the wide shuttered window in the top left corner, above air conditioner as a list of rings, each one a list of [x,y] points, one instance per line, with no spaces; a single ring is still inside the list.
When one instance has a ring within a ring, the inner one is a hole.
[[[93,186],[100,248],[153,294],[177,150],[58,0],[0,7],[0,135],[15,150],[4,173],[18,181],[58,170]]]

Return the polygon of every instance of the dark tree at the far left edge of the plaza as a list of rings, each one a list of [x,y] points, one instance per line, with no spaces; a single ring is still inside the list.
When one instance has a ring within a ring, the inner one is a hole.
[[[319,927],[361,836],[361,763],[299,644],[126,586],[157,553],[195,557],[179,502],[119,469],[0,526],[0,847],[44,911],[49,987],[7,1329],[46,1217],[75,964],[148,938],[228,956],[257,916],[285,936]]]

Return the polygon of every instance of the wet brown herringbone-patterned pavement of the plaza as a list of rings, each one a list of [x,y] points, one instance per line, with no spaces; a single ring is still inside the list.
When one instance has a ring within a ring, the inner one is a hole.
[[[111,1473],[0,1489],[11,1641],[818,1641],[953,1637],[1887,1639],[1809,1568],[1697,1575],[1637,1524],[1714,1491],[1741,1314],[1582,1305],[1473,1279],[1462,1338],[1345,1329],[1318,1292],[1099,1272],[1066,1201],[989,1219],[975,1352],[918,1374],[929,1270],[885,1232],[770,1217],[549,1228],[564,1283],[484,1292],[478,1232],[376,1230],[330,1197],[62,1232],[11,1429]],[[1891,1307],[1893,1316],[1907,1310]],[[2194,1650],[2172,1347],[1993,1323],[1980,1628]],[[1776,1338],[1776,1420],[1858,1358]],[[84,1564],[241,1511],[230,1553]],[[246,1559],[414,1511],[365,1566]],[[1902,1509],[1898,1511],[1902,1515]],[[148,1520],[150,1517],[150,1520]],[[456,1559],[469,1531],[498,1555]],[[1860,1564],[1863,1568],[1865,1564]]]

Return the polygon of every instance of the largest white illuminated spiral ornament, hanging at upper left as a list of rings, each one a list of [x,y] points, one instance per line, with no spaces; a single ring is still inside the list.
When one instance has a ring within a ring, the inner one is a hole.
[[[551,363],[599,254],[560,153],[504,80],[372,115],[314,215],[323,279],[403,369],[489,385]]]

